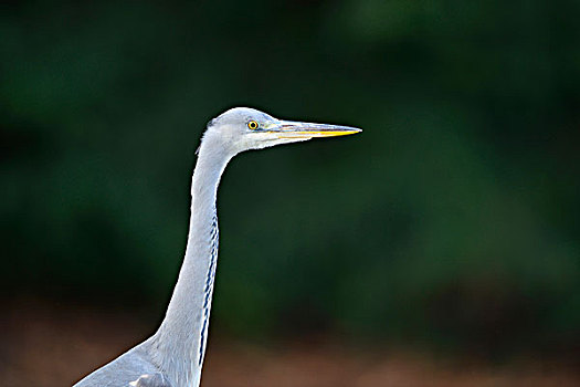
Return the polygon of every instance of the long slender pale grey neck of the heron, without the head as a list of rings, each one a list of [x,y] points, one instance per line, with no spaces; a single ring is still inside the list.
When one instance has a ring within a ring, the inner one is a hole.
[[[233,155],[202,142],[191,185],[191,218],[183,264],[166,317],[152,337],[158,366],[176,386],[199,386],[218,263],[215,199]]]

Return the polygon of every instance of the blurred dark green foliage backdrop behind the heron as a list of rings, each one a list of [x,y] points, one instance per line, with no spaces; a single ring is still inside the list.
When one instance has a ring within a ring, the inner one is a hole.
[[[565,0],[3,3],[4,286],[161,315],[199,137],[247,105],[365,133],[228,168],[214,324],[579,344],[579,18]]]

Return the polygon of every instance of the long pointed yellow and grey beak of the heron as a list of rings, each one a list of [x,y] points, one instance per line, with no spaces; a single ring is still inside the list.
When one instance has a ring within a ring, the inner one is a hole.
[[[362,132],[358,127],[281,121],[266,129],[280,138],[348,136]]]

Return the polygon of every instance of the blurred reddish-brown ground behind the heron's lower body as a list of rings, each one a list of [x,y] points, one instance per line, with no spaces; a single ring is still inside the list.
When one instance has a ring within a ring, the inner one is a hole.
[[[0,384],[67,386],[145,338],[151,327],[131,314],[72,310],[54,303],[3,307]],[[530,362],[510,366],[458,366],[425,356],[357,353],[321,344],[284,349],[212,336],[202,386],[580,386],[570,368]]]

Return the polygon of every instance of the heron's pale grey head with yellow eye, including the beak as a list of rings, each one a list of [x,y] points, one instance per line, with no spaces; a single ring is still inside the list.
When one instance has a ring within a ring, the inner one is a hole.
[[[305,142],[314,137],[345,136],[359,128],[277,119],[249,107],[234,107],[208,123],[203,142],[219,142],[232,154]]]

